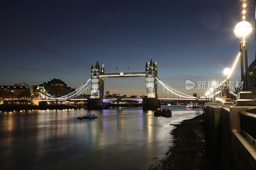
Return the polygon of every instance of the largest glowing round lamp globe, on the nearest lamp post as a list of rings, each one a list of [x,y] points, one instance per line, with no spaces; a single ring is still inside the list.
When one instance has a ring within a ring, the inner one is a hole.
[[[238,39],[246,39],[252,34],[252,26],[247,21],[239,22],[235,26],[234,33]]]

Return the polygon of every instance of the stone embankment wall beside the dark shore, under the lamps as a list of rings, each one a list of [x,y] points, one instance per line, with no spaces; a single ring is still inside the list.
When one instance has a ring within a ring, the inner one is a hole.
[[[240,129],[239,111],[251,107],[214,106],[204,107],[205,124],[210,137],[213,163],[220,169],[255,169],[253,152],[256,146],[244,137]],[[244,137],[244,138],[243,138]],[[251,146],[249,146],[251,145]]]

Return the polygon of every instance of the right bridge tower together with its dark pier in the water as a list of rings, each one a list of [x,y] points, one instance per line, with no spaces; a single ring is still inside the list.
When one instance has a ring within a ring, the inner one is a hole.
[[[149,64],[146,62],[145,73],[147,98],[142,99],[142,109],[155,110],[160,107],[160,100],[157,98],[157,66],[152,57]]]

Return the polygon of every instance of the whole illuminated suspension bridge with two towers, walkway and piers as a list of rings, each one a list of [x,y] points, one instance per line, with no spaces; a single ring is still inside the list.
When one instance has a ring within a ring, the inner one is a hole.
[[[160,78],[157,77],[158,68],[156,62],[150,59],[150,62],[146,61],[145,72],[130,72],[124,73],[123,71],[119,73],[105,73],[104,64],[100,66],[99,60],[97,60],[95,66],[91,66],[91,78],[84,83],[81,87],[76,89],[76,91],[62,97],[55,97],[46,92],[39,92],[38,95],[34,95],[34,103],[44,101],[74,101],[74,100],[87,100],[88,109],[99,109],[108,102],[115,101],[118,99],[104,99],[104,80],[105,78],[129,78],[129,77],[145,77],[145,90],[146,97],[143,99],[124,99],[124,100],[134,100],[143,103],[143,110],[153,110],[160,107],[160,100],[206,100],[205,97],[197,99],[196,97],[178,92],[172,87],[166,85]],[[176,98],[158,98],[157,96],[157,82],[163,85],[167,93],[172,93],[176,95]],[[86,98],[85,92],[91,88],[90,99]],[[36,98],[37,96],[37,98]],[[180,98],[177,98],[179,96]]]

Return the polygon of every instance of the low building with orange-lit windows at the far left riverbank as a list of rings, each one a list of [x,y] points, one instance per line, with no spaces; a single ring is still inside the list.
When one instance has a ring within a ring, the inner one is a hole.
[[[28,100],[30,99],[30,89],[23,85],[0,85],[0,98],[4,100]]]

